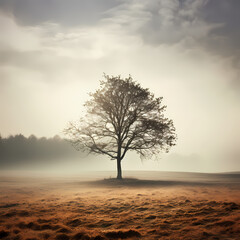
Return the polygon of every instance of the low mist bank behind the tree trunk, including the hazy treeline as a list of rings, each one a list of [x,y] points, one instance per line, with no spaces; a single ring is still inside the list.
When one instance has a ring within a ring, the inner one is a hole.
[[[231,163],[236,167],[232,168]],[[182,156],[176,153],[162,154],[158,158],[141,160],[134,153],[128,153],[122,162],[123,170],[154,170],[180,172],[227,172],[239,171],[237,156],[234,159],[218,159],[215,168],[209,167],[196,154]],[[229,164],[229,168],[226,166]],[[0,139],[1,170],[39,171],[42,173],[78,174],[84,171],[115,171],[116,161],[105,156],[96,156],[86,152],[76,151],[71,144],[59,136],[53,138],[28,138],[23,135]],[[207,169],[207,170],[206,170]]]

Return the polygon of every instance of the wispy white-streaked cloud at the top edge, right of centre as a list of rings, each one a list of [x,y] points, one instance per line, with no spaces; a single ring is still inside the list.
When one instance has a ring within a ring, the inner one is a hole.
[[[206,36],[218,24],[207,24],[200,16],[205,0],[125,1],[106,12],[105,21],[139,34],[145,43],[175,44]]]

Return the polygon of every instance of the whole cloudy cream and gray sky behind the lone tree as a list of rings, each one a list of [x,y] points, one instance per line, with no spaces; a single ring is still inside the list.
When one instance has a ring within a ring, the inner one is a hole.
[[[0,134],[61,135],[103,73],[163,97],[177,146],[126,169],[240,171],[240,1],[0,0]]]

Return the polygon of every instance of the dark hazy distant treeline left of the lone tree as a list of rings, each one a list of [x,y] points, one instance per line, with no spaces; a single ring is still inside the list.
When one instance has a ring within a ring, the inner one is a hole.
[[[79,156],[80,153],[59,136],[53,138],[37,138],[34,135],[26,138],[22,134],[8,138],[0,136],[0,166],[39,163]]]

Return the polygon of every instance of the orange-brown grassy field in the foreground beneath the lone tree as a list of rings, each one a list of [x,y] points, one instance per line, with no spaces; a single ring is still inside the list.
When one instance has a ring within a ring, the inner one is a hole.
[[[0,239],[239,239],[240,174],[110,175],[1,174]]]

